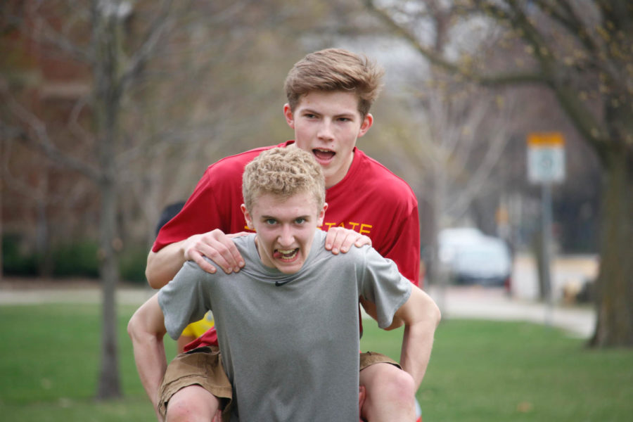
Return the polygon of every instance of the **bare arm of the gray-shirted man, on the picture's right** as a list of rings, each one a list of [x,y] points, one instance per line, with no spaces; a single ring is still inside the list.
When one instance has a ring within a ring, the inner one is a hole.
[[[416,390],[426,373],[433,349],[433,335],[440,324],[440,309],[429,295],[416,286],[411,286],[409,300],[395,313],[388,329],[404,324],[400,365],[414,378]]]

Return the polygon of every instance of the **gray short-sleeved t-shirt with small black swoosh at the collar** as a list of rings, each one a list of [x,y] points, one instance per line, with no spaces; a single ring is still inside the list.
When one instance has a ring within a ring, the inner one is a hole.
[[[246,262],[238,273],[184,264],[158,296],[167,332],[176,339],[212,310],[236,402],[231,421],[357,422],[358,298],[376,304],[386,328],[411,282],[368,246],[333,255],[321,230],[295,274],[264,267],[254,239],[234,239]]]

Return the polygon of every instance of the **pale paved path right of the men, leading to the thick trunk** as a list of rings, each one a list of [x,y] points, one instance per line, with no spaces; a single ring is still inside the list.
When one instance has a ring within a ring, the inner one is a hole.
[[[495,321],[529,321],[563,328],[589,338],[594,333],[596,312],[590,306],[554,304],[509,298],[502,288],[449,286],[444,295],[437,286],[427,293],[442,310],[442,318],[477,318]]]

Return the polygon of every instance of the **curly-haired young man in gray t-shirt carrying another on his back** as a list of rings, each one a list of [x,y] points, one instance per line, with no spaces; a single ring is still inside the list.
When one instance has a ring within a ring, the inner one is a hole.
[[[143,385],[158,397],[165,366],[155,363],[165,358],[165,331],[178,338],[212,310],[226,376],[196,381],[228,402],[227,418],[357,421],[359,296],[374,305],[381,328],[406,326],[404,347],[411,349],[433,336],[437,307],[369,246],[340,255],[325,250],[326,234],[317,230],[328,207],[324,178],[309,153],[295,146],[262,152],[245,168],[243,197],[245,221],[256,232],[234,238],[245,267],[210,274],[187,262],[132,316],[128,331]],[[193,351],[186,361],[193,364],[194,356],[204,369],[205,355],[217,352]],[[182,362],[177,357],[165,378]],[[153,400],[161,416],[165,390],[180,386],[179,379],[163,383],[160,401]]]

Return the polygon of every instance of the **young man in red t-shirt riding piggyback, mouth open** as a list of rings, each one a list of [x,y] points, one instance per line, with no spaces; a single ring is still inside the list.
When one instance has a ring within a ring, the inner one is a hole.
[[[334,253],[348,250],[358,238],[340,228],[353,229],[369,236],[373,247],[395,261],[399,271],[417,285],[420,243],[416,198],[402,179],[356,148],[357,139],[373,124],[369,108],[378,96],[382,75],[371,61],[340,49],[317,51],[300,60],[286,78],[288,103],[283,108],[295,140],[281,146],[312,153],[323,169],[329,204],[321,225],[328,231],[326,249]],[[225,234],[245,229],[240,211],[243,168],[269,148],[234,155],[207,168],[183,210],[163,226],[155,241],[146,269],[151,286],[164,286],[187,260],[215,271],[203,257],[224,271],[240,271],[243,257]],[[375,314],[371,303],[362,303]],[[363,418],[400,420],[395,418],[398,412],[413,409],[432,343],[431,336],[417,350],[408,347],[400,362],[404,371],[388,359],[361,356],[360,384],[366,390]],[[203,335],[192,347],[206,345],[217,345],[215,331]],[[194,409],[200,402],[200,390],[195,387],[184,386],[175,392],[170,405],[184,403]]]

